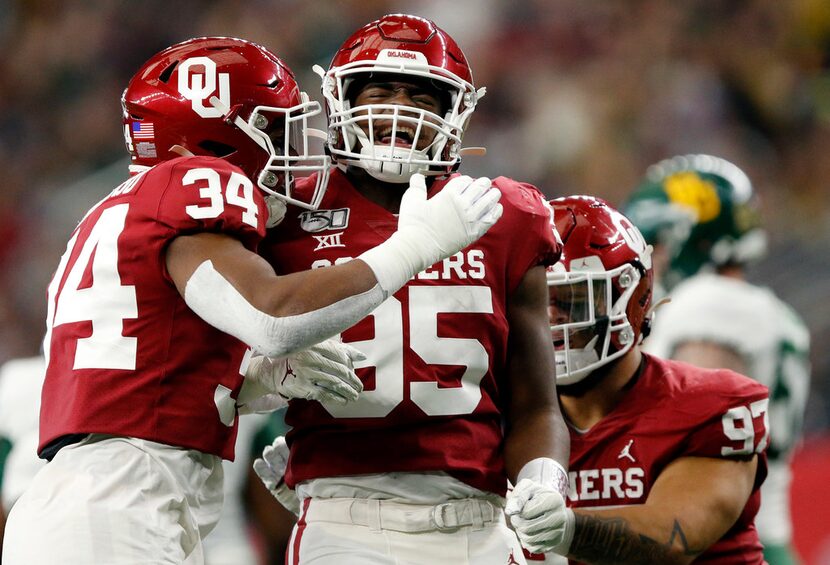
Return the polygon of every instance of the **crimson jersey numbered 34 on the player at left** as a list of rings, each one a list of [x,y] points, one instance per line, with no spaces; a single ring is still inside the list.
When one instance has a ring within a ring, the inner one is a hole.
[[[254,251],[266,214],[242,171],[210,157],[161,163],[87,213],[49,285],[39,452],[102,433],[233,458],[249,350],[187,307],[165,251],[203,231]]]

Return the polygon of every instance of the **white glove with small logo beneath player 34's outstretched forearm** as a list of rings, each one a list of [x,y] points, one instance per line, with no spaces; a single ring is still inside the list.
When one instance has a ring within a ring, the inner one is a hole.
[[[354,372],[366,356],[346,343],[327,339],[291,357],[251,359],[237,399],[240,414],[273,411],[280,398],[346,404],[357,400],[363,383]]]

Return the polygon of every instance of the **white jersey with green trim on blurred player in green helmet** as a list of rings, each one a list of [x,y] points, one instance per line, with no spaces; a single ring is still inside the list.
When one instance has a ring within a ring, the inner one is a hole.
[[[810,386],[807,327],[770,289],[732,277],[698,274],[669,296],[671,302],[656,311],[646,351],[671,358],[684,342],[722,344],[743,357],[747,376],[769,388],[769,475],[755,523],[765,545],[787,543],[789,459],[801,437]]]

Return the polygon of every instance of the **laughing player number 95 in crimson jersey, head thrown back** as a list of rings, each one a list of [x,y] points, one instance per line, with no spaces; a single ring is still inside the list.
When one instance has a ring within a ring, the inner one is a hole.
[[[412,178],[428,177],[433,197],[469,182],[455,169],[484,90],[433,22],[367,24],[320,73],[337,167],[318,210],[289,208],[269,231],[262,253],[278,273],[348,265],[389,238]],[[502,511],[508,478],[526,479],[551,502],[548,523],[564,523],[568,438],[545,280],[558,236],[535,187],[492,184],[504,215],[486,236],[343,332],[367,355],[361,397],[289,403],[285,485],[302,503],[289,562],[524,562]],[[275,494],[281,441],[255,466]]]

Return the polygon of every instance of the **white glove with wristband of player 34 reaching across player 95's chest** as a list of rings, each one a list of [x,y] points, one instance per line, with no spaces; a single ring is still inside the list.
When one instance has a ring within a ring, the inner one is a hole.
[[[427,200],[424,175],[412,175],[401,199],[398,231],[359,259],[391,294],[487,233],[504,211],[500,198],[501,191],[487,177],[459,176]]]

